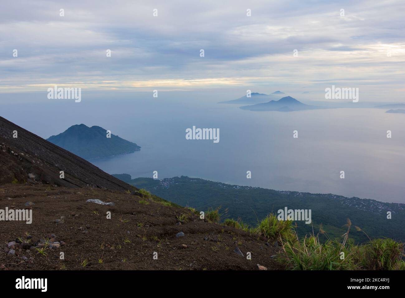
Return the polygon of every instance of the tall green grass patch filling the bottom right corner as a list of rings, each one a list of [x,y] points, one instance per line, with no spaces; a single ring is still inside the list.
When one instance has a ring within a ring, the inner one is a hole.
[[[345,226],[347,232],[343,234],[342,243],[330,239],[322,243],[319,233],[302,240],[297,236],[281,239],[280,261],[291,270],[405,270],[403,243],[384,238],[355,245],[348,238],[352,226],[350,219]],[[359,227],[356,229],[362,231]],[[320,233],[326,234],[322,228]]]

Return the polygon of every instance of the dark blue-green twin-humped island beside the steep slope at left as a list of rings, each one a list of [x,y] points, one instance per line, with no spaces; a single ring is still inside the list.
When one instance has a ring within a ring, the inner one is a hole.
[[[100,126],[88,127],[85,124],[70,126],[59,135],[47,139],[84,159],[96,159],[128,154],[141,149],[140,146],[111,134]]]

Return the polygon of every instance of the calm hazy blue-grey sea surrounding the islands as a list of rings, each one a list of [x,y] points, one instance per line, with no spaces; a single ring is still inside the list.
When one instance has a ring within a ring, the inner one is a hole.
[[[84,123],[141,146],[139,152],[91,161],[110,174],[136,178],[158,171],[159,179],[184,175],[405,203],[405,115],[360,108],[252,112],[217,104],[220,100],[190,94],[153,99],[148,93],[81,103],[41,97],[22,106],[18,101],[26,99],[21,98],[3,105],[1,116],[44,138]],[[185,129],[193,125],[218,128],[219,143],[185,139]],[[246,178],[247,171],[252,179]],[[339,178],[340,171],[345,179]]]

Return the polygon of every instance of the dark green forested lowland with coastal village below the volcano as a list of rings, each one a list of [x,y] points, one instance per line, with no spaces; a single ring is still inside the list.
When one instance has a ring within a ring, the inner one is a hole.
[[[358,197],[343,197],[333,194],[300,193],[296,191],[275,191],[260,187],[244,187],[224,184],[187,176],[155,180],[152,178],[131,179],[128,174],[113,175],[135,187],[146,189],[168,201],[197,210],[208,210],[222,206],[225,218],[240,218],[243,222],[256,225],[269,213],[284,209],[311,209],[312,223],[296,222],[298,236],[318,233],[320,239],[340,240],[347,231],[349,218],[353,227],[358,226],[370,238],[389,237],[405,241],[405,204],[384,203]],[[387,212],[392,219],[387,219]],[[353,228],[350,239],[355,243],[368,240],[364,232]]]

